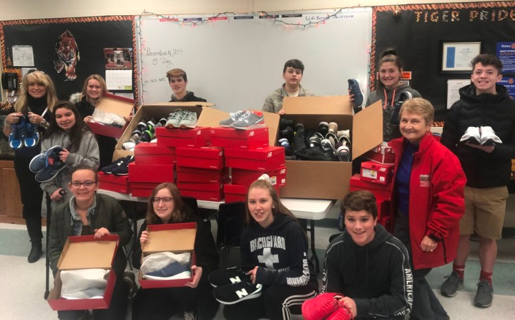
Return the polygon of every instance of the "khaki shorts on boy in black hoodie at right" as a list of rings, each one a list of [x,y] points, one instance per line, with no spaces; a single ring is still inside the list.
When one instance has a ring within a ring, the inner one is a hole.
[[[461,236],[478,236],[501,240],[506,213],[507,187],[478,189],[465,187],[465,214],[459,222]]]

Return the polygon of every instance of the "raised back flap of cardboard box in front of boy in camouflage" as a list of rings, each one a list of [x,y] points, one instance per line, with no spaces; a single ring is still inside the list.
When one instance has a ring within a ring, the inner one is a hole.
[[[282,108],[286,114],[320,115],[321,108],[326,115],[352,115],[348,95],[317,95],[310,97],[284,97]]]

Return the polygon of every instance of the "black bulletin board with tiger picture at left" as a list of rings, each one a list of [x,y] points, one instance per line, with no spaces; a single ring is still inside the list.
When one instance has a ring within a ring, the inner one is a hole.
[[[66,52],[66,45],[76,56],[67,55],[69,63],[63,63],[57,53],[58,49]],[[69,100],[71,93],[82,91],[84,80],[92,73],[105,78],[104,48],[124,47],[134,52],[134,16],[0,21],[0,46],[4,72],[20,74],[21,67],[44,71],[54,81],[58,98]],[[33,61],[27,49],[32,50]],[[137,64],[134,56],[131,58],[134,70]],[[58,72],[59,66],[63,71]],[[75,78],[66,74],[70,66]]]

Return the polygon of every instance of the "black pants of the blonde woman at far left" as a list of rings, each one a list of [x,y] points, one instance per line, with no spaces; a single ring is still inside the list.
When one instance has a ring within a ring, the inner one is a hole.
[[[36,149],[34,149],[36,152]],[[39,153],[35,153],[34,157]],[[21,203],[23,204],[23,218],[27,225],[30,242],[41,244],[43,232],[41,231],[41,202],[43,201],[43,190],[34,179],[35,173],[29,170],[29,163],[32,157],[18,156],[14,158],[14,172],[20,185]]]

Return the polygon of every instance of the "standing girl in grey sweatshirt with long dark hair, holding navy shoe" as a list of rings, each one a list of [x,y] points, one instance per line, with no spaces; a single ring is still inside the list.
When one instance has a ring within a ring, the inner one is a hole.
[[[54,106],[49,127],[41,142],[42,152],[53,146],[61,146],[65,149],[59,152],[60,161],[66,163],[65,168],[49,181],[41,183],[43,192],[48,192],[52,199],[52,211],[57,205],[69,201],[72,196],[68,185],[71,181],[71,170],[78,166],[97,170],[100,163],[100,152],[95,135],[84,122],[76,119],[80,119],[80,115],[71,102],[58,102]],[[47,211],[46,203],[44,198],[41,208],[44,213]]]

